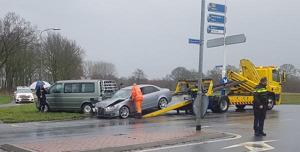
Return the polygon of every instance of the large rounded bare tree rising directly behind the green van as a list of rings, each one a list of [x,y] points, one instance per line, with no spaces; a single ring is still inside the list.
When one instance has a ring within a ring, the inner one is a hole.
[[[82,73],[84,49],[57,32],[47,32],[42,40],[45,72],[53,81],[78,78]]]

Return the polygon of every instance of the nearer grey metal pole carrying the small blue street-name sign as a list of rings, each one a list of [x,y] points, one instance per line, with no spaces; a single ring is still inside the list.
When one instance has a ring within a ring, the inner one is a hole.
[[[199,78],[198,78],[198,91],[197,97],[194,102],[202,100],[202,67],[203,67],[203,45],[204,45],[204,19],[205,19],[205,0],[201,1],[201,21],[200,21],[200,46],[199,46]],[[201,130],[201,111],[200,105],[197,105],[196,112],[196,130]]]

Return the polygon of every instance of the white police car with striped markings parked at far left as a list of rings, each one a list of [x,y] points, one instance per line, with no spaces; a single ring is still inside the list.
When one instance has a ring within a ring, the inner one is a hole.
[[[34,102],[34,96],[29,87],[18,86],[15,88],[14,101],[18,102]]]

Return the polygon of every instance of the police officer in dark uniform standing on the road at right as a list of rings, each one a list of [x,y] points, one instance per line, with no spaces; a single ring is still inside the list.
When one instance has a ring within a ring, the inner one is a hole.
[[[267,101],[267,91],[266,91],[267,79],[262,77],[260,83],[254,87],[253,90],[253,111],[254,111],[254,135],[265,136],[266,133],[263,132],[263,123],[265,119],[266,106],[271,106]]]

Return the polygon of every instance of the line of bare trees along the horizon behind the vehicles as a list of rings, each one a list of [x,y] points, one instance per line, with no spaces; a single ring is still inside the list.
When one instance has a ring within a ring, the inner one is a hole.
[[[132,85],[153,84],[174,90],[179,79],[197,78],[196,69],[183,66],[174,68],[161,78],[148,79],[146,73],[136,68],[130,76],[118,76],[114,63],[109,61],[84,60],[85,50],[75,40],[57,31],[48,31],[40,39],[37,25],[14,12],[0,18],[0,86],[2,91],[12,91],[16,86],[28,86],[42,80],[53,83],[57,80],[79,79],[80,75],[92,75],[93,79],[115,79],[117,83]],[[40,43],[41,41],[41,43]],[[42,72],[41,71],[42,60]],[[300,92],[300,70],[292,64],[282,64],[286,71],[285,92]],[[238,72],[234,65],[226,70]],[[221,68],[213,68],[201,73],[220,83]]]

